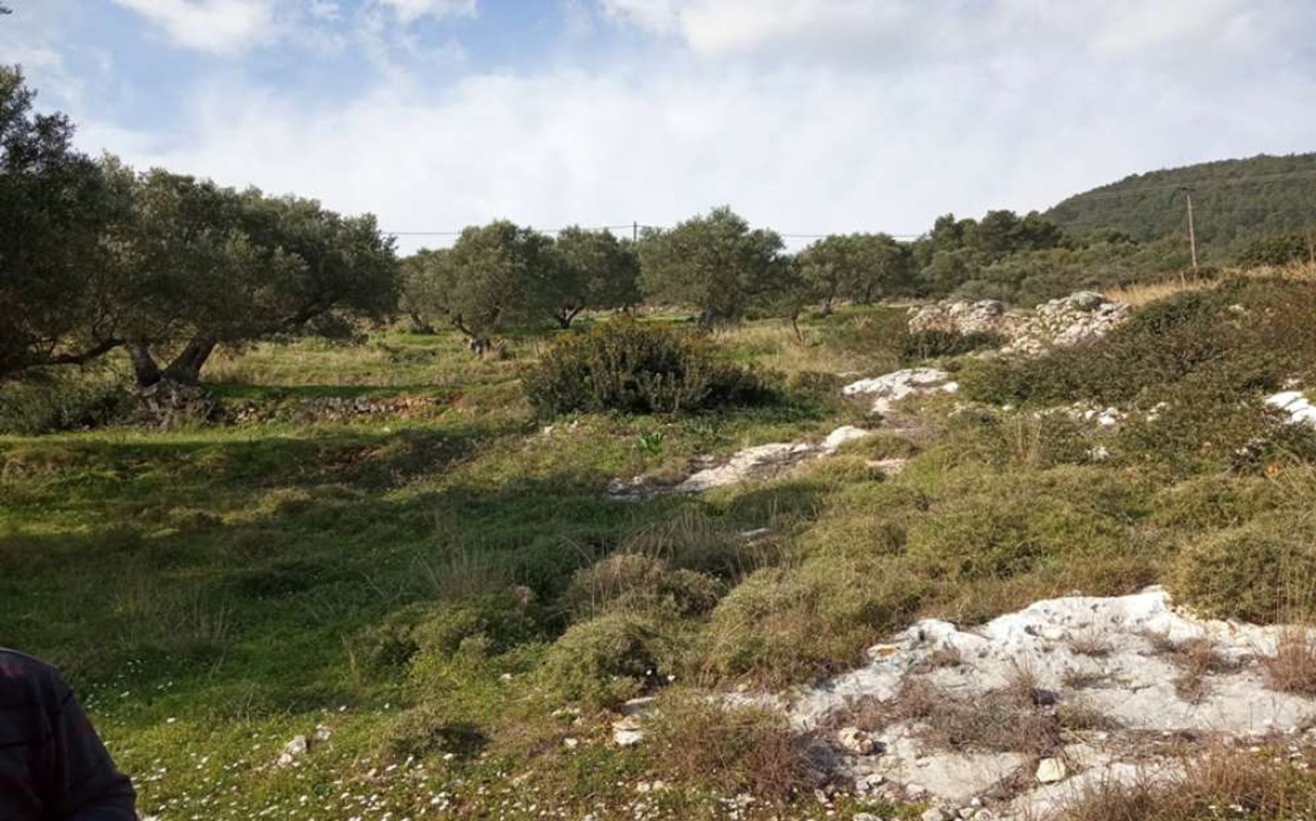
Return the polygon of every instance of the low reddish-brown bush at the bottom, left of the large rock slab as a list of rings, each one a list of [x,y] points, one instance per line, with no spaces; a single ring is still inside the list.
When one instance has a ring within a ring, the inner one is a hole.
[[[682,783],[712,782],[724,795],[749,792],[774,801],[799,795],[811,767],[786,717],[715,699],[703,693],[665,699],[651,725],[658,760]]]

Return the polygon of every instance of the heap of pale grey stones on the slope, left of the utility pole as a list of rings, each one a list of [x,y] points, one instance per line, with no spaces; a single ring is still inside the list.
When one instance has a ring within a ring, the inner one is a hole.
[[[912,308],[909,330],[995,334],[1008,339],[1004,353],[1034,355],[1051,346],[1078,345],[1105,336],[1129,313],[1124,303],[1095,291],[1079,291],[1033,311],[1007,311],[996,300],[950,301]]]

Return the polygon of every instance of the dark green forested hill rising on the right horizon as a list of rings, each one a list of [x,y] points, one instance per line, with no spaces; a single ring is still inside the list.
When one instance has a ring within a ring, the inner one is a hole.
[[[1183,236],[1183,188],[1192,192],[1198,241],[1208,255],[1263,237],[1316,230],[1316,153],[1134,174],[1071,196],[1046,216],[1079,236],[1099,229],[1142,242]]]

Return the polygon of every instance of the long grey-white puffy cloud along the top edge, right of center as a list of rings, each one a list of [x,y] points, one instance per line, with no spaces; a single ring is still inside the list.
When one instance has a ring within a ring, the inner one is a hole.
[[[612,17],[678,36],[700,55],[904,64],[1001,54],[1248,47],[1295,16],[1290,0],[600,0]],[[1200,53],[1199,53],[1200,54]],[[1216,54],[1219,57],[1219,53]]]

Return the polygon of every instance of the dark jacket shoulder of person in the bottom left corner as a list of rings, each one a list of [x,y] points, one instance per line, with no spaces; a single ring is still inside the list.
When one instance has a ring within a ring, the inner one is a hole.
[[[0,821],[136,821],[133,803],[59,674],[0,649]]]

